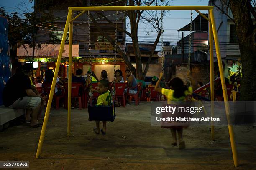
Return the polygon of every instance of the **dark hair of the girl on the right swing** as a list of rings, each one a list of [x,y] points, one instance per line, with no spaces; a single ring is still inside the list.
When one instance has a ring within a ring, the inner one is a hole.
[[[184,92],[188,90],[187,86],[184,85],[183,81],[178,77],[173,78],[169,85],[172,86],[172,90],[174,90],[173,96],[175,98],[185,96]]]

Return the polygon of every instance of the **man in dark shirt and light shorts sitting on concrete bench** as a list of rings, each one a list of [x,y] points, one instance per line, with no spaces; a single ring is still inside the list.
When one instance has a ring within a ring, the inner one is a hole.
[[[41,95],[33,92],[31,81],[28,77],[33,65],[24,64],[19,71],[10,77],[3,89],[3,104],[13,109],[32,109],[31,127],[41,127],[37,121],[41,107]],[[27,117],[26,117],[27,118]]]

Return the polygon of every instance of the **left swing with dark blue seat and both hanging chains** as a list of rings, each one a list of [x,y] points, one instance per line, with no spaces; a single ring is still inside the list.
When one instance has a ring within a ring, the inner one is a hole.
[[[114,87],[115,87],[115,67],[116,67],[116,47],[117,47],[117,20],[118,11],[116,11],[116,22],[115,22],[115,65],[114,65]],[[89,55],[90,55],[90,70],[92,66],[92,55],[91,55],[91,34],[90,34],[90,11],[88,11],[88,30],[89,30]],[[91,75],[92,76],[92,75]],[[88,113],[89,121],[110,121],[115,120],[115,88],[113,89],[112,103],[110,106],[92,106],[90,105],[90,99],[88,101]]]

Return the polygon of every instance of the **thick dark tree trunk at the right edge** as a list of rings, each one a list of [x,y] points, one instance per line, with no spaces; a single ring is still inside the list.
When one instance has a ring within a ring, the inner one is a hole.
[[[253,24],[247,0],[230,0],[230,8],[236,24],[236,33],[242,59],[240,100],[256,100],[256,28]]]

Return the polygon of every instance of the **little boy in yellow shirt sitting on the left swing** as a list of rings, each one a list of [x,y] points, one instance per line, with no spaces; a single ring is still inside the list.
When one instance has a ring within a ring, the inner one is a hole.
[[[110,94],[110,91],[108,90],[109,82],[108,80],[102,79],[98,82],[98,90],[91,89],[91,92],[98,92],[101,95],[98,97],[97,104],[95,106],[111,106],[112,105],[112,96]],[[103,128],[100,130],[100,121],[95,121],[96,127],[93,128],[93,131],[96,134],[100,134],[100,131],[102,135],[106,134],[107,130],[107,122],[102,121]]]

